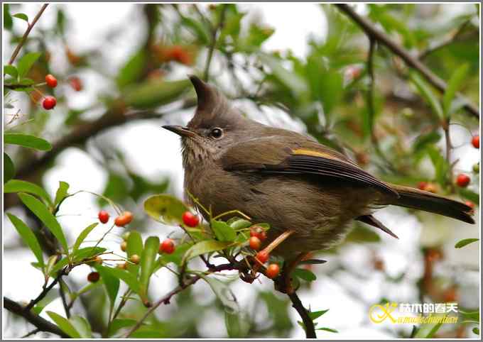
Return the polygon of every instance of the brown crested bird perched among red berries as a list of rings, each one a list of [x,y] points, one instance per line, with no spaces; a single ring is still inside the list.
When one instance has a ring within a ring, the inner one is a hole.
[[[379,180],[310,136],[251,120],[216,87],[189,77],[197,94],[195,115],[186,126],[163,126],[181,137],[185,199],[214,216],[240,211],[269,224],[266,244],[276,241],[270,251],[285,260],[337,245],[353,221],[397,238],[373,216],[389,205],[474,224],[470,206]]]

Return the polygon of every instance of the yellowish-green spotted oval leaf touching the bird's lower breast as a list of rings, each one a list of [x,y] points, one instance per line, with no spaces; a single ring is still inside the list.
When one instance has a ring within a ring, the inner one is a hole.
[[[156,194],[144,201],[144,211],[156,221],[174,226],[183,224],[181,216],[188,207],[173,196]]]

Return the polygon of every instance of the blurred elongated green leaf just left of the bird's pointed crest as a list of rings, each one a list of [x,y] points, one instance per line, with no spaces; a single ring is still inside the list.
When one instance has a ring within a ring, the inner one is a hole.
[[[125,87],[123,99],[128,106],[151,109],[178,100],[188,87],[190,82],[186,79],[180,81],[155,79]]]

